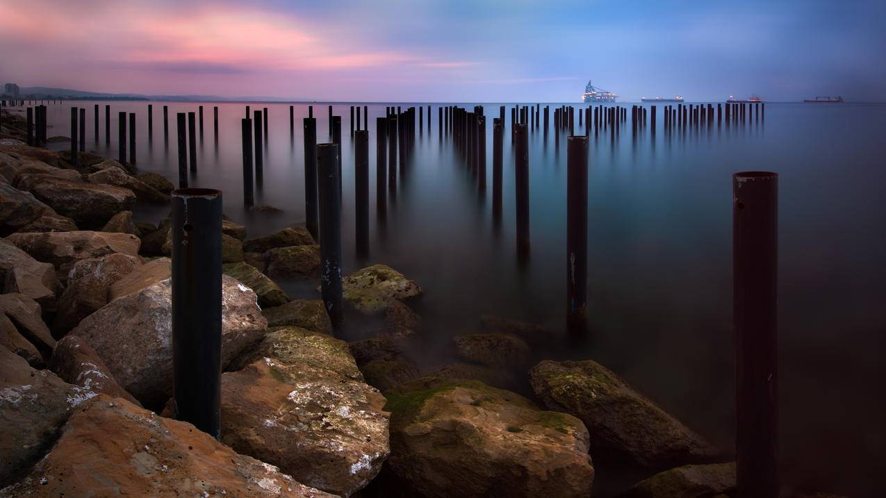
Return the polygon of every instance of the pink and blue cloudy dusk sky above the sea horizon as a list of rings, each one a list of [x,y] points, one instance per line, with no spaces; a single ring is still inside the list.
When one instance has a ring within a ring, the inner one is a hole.
[[[27,8],[21,8],[27,5]],[[147,95],[886,100],[886,0],[0,0],[0,82]]]

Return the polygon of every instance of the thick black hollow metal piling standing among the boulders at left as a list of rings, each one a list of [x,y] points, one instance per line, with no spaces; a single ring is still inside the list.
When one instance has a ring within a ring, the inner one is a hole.
[[[172,194],[175,418],[221,437],[221,191]]]

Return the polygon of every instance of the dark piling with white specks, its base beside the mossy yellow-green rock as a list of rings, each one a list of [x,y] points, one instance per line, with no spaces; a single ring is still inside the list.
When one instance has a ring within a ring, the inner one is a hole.
[[[338,144],[317,145],[320,189],[320,291],[330,315],[332,330],[341,331],[341,187],[338,179]]]

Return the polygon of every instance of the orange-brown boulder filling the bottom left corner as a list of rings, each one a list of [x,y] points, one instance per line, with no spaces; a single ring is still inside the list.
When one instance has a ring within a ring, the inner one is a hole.
[[[2,430],[2,429],[0,429]],[[18,476],[20,477],[20,476]],[[58,443],[0,496],[330,497],[237,455],[186,422],[105,394],[75,410]]]

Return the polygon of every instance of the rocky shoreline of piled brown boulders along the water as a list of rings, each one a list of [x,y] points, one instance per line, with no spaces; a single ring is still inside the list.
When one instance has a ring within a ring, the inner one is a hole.
[[[532,364],[552,332],[484,316],[459,362],[410,354],[421,286],[384,264],[344,278],[333,338],[304,227],[223,226],[221,440],[167,418],[168,218],[161,175],[0,129],[0,496],[588,496],[595,463],[648,479],[625,496],[732,496],[723,452],[593,360]],[[505,388],[530,385],[532,397]],[[789,493],[789,495],[791,495]]]

